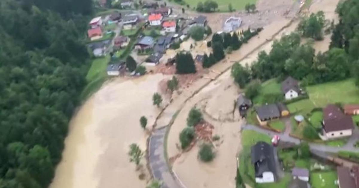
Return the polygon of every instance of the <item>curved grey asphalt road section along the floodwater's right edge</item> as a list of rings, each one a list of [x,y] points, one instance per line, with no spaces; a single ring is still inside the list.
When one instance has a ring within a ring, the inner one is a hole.
[[[163,182],[162,188],[182,188],[180,183],[173,178],[168,169],[164,156],[164,135],[168,126],[155,129],[149,141],[149,161],[152,174],[155,179]]]

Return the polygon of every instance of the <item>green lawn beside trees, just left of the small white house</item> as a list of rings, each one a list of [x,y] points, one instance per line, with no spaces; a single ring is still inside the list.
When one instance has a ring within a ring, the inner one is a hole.
[[[280,83],[278,83],[275,78],[263,82],[262,88],[259,91],[259,95],[253,99],[253,102],[255,104],[265,104],[266,103],[265,95],[272,93],[274,94],[282,93],[280,88],[281,88]]]

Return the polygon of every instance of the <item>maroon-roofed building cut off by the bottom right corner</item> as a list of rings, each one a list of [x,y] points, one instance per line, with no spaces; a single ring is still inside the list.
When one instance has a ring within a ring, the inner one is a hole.
[[[337,167],[339,188],[359,188],[359,169],[353,167]]]

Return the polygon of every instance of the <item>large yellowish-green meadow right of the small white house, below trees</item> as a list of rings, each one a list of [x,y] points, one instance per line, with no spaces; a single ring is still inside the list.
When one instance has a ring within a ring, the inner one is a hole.
[[[359,88],[355,86],[353,79],[308,86],[307,92],[316,107],[325,107],[337,102],[359,103]]]

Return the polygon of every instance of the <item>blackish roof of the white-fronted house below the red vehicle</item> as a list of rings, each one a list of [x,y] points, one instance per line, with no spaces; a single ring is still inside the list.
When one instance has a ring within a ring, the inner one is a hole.
[[[256,177],[262,177],[264,172],[275,174],[273,146],[263,141],[251,147],[251,159],[254,164]]]

